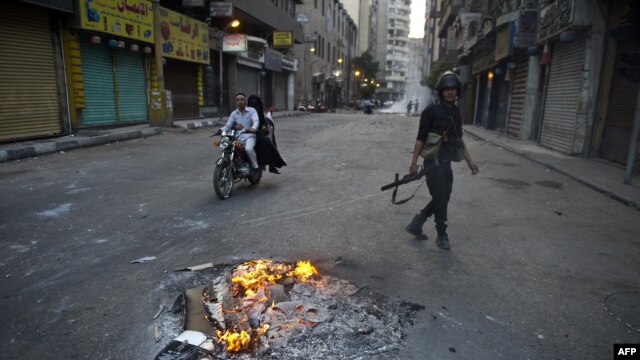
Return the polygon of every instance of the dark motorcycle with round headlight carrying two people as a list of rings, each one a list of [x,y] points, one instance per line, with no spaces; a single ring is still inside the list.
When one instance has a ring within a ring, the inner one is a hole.
[[[213,190],[222,200],[231,196],[233,184],[248,180],[251,184],[257,184],[262,178],[262,168],[255,174],[251,174],[251,162],[244,151],[244,145],[238,140],[240,134],[246,130],[226,130],[213,136],[220,136],[220,140],[214,141],[215,147],[222,149],[220,158],[216,161],[213,170]]]

